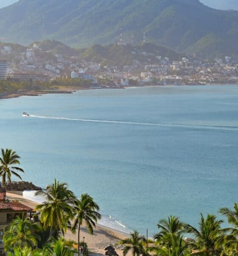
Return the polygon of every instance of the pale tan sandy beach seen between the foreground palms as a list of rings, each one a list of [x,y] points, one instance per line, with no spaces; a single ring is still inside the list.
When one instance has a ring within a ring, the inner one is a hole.
[[[35,209],[38,203],[28,200],[24,198],[21,193],[15,194],[12,192],[7,192],[6,194],[7,198],[18,200],[22,204],[25,204],[28,207],[31,207],[32,209]],[[105,255],[104,248],[107,247],[110,244],[116,244],[121,239],[125,239],[128,235],[126,233],[119,232],[117,230],[110,229],[108,227],[104,227],[102,225],[97,224],[96,228],[94,229],[94,234],[90,235],[88,233],[88,230],[85,225],[82,226],[80,230],[80,236],[85,237],[85,242],[88,244],[88,248],[91,252],[91,255]],[[77,234],[71,233],[71,231],[68,231],[65,234],[65,239],[72,239],[74,241],[77,241]],[[119,254],[119,256],[122,256],[122,250],[117,249],[116,252]],[[129,254],[128,254],[129,255]]]

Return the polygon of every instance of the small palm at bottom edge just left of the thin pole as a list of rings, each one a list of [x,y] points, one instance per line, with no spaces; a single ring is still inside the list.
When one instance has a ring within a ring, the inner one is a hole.
[[[146,250],[144,249],[144,243],[146,239],[144,236],[140,236],[139,232],[134,230],[133,233],[130,233],[130,238],[122,240],[120,243],[125,245],[123,250],[123,255],[127,255],[127,253],[131,250],[133,256],[145,256],[147,255]]]

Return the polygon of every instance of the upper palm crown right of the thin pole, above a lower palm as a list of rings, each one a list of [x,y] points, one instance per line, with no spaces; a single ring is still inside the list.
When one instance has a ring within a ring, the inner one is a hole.
[[[160,231],[154,236],[156,241],[161,239],[164,235],[176,235],[184,232],[184,223],[179,221],[176,216],[170,216],[168,219],[161,219],[157,224],[157,227]]]

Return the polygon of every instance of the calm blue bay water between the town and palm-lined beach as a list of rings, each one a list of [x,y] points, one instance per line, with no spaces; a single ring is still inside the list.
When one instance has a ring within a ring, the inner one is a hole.
[[[24,180],[88,192],[106,226],[152,236],[168,215],[197,225],[238,201],[238,86],[0,100],[0,147],[20,154]]]

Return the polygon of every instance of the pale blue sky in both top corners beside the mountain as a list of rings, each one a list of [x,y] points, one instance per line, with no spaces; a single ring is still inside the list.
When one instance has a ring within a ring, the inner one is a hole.
[[[0,8],[8,6],[18,0],[0,0]],[[238,0],[200,0],[207,6],[217,9],[235,9],[238,10]]]

